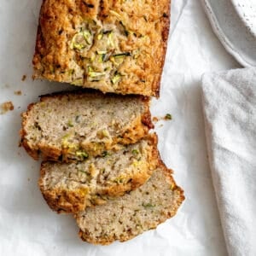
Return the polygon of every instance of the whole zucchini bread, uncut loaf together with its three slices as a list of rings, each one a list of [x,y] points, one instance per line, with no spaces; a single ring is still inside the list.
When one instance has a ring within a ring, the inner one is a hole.
[[[43,159],[45,201],[73,213],[84,241],[129,240],[184,199],[150,131],[169,21],[166,0],[42,4],[34,77],[90,89],[40,96],[22,114],[21,144]]]

